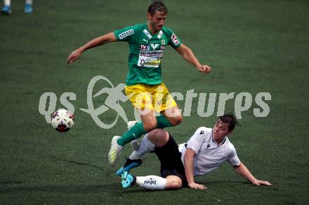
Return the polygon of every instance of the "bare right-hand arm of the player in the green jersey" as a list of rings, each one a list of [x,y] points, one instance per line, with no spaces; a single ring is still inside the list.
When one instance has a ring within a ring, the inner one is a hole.
[[[211,67],[208,65],[202,65],[199,63],[199,60],[195,55],[193,54],[192,50],[188,48],[186,45],[181,44],[176,50],[179,52],[179,54],[190,64],[194,65],[199,72],[202,73],[210,73]]]

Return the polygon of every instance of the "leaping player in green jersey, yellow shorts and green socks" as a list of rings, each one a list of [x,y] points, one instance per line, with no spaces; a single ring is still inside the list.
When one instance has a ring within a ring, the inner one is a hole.
[[[119,29],[94,38],[67,58],[70,64],[82,52],[106,43],[126,41],[129,43],[129,73],[125,91],[133,106],[140,111],[141,122],[136,123],[123,136],[114,136],[108,153],[110,164],[114,164],[122,147],[155,128],[179,125],[183,120],[176,102],[162,83],[161,59],[164,49],[171,45],[199,72],[209,73],[211,68],[200,64],[192,50],[167,27],[164,27],[168,10],[162,1],[154,1],[148,8],[147,22]],[[162,115],[155,116],[155,112]]]

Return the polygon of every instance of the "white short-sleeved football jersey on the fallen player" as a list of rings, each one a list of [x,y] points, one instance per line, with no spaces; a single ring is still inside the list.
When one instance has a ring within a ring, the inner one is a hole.
[[[212,129],[199,127],[191,136],[188,143],[179,145],[182,153],[181,160],[184,164],[186,148],[195,150],[193,175],[199,176],[218,168],[223,162],[228,161],[232,166],[239,166],[240,160],[232,143],[225,136],[220,146],[213,140]]]

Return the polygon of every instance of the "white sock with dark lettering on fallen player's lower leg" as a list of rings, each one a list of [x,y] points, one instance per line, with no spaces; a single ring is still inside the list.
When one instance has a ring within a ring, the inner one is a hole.
[[[136,176],[136,185],[147,190],[165,190],[166,178],[160,176]]]

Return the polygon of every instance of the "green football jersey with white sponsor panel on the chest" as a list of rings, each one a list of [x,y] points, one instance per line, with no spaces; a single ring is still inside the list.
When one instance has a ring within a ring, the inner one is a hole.
[[[129,73],[126,85],[162,83],[161,59],[166,45],[178,48],[180,39],[167,27],[151,34],[147,24],[136,24],[114,31],[117,41],[129,43]]]

